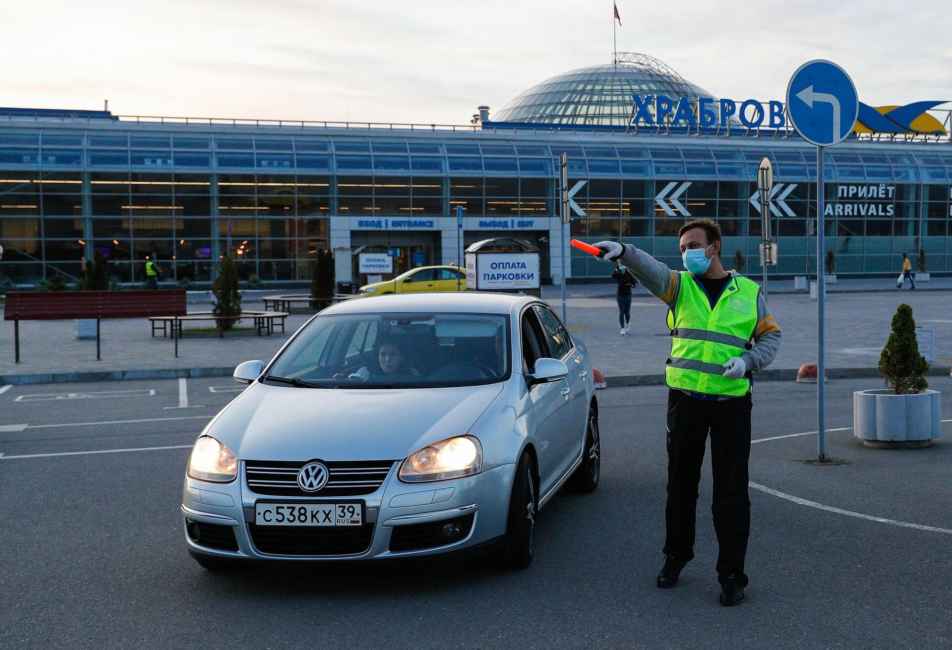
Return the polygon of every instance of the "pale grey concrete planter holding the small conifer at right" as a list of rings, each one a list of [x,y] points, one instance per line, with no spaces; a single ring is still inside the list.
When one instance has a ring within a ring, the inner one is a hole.
[[[867,447],[925,447],[942,433],[942,394],[923,390],[896,395],[888,390],[853,393],[853,431]]]

